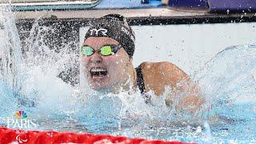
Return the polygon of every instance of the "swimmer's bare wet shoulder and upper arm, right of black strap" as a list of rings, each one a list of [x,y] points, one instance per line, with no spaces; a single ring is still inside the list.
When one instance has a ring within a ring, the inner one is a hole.
[[[154,94],[160,96],[169,86],[173,90],[166,94],[167,106],[190,113],[200,110],[204,99],[199,94],[198,86],[192,85],[189,76],[178,66],[170,62],[143,62],[141,66],[146,92],[153,90]]]

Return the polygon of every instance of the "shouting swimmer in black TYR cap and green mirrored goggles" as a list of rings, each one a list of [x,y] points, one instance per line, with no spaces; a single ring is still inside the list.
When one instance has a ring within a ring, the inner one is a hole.
[[[134,68],[134,41],[134,31],[122,15],[108,14],[94,19],[81,47],[82,66],[89,86],[114,94],[138,89],[142,96],[150,90],[161,96],[166,87],[170,87],[172,92],[166,98],[167,106],[178,100],[177,110],[199,110],[204,99],[178,66],[170,62],[142,62]],[[146,102],[150,102],[150,98],[146,97]]]

